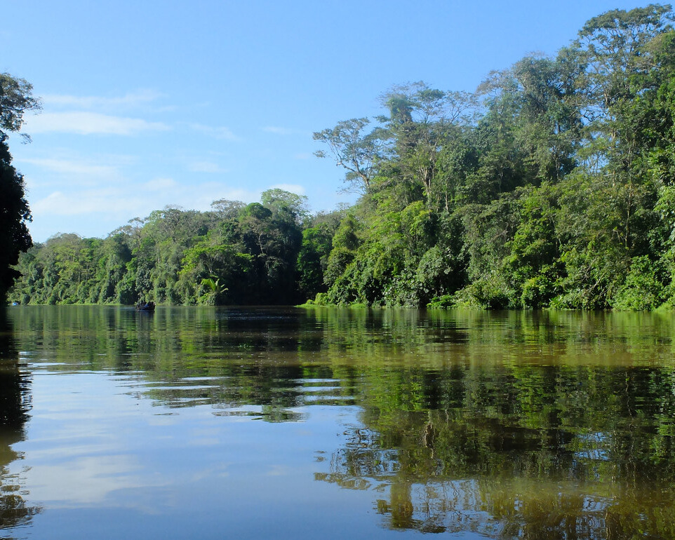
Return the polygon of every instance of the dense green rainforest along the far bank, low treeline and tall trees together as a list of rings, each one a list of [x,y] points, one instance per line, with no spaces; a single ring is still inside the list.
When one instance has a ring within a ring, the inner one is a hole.
[[[17,266],[21,303],[656,309],[675,304],[670,6],[609,11],[554,58],[474,93],[391,88],[383,114],[314,134],[352,208],[273,189],[165,208]]]

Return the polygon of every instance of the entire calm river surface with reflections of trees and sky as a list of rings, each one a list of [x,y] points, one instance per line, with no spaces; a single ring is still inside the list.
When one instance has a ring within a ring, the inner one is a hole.
[[[0,310],[1,538],[675,538],[669,314]]]

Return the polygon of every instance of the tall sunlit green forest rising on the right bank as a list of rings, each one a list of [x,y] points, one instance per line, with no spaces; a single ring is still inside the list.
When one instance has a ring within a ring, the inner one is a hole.
[[[375,173],[335,235],[322,302],[670,305],[671,20],[669,6],[604,13],[556,58],[490,73],[473,96],[424,83],[385,93]],[[363,142],[366,120],[333,134]]]

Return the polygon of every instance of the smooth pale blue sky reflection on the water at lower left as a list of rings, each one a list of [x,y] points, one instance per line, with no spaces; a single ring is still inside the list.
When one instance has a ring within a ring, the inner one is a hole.
[[[27,439],[15,445],[23,459],[12,464],[44,506],[32,538],[135,537],[136,524],[144,538],[337,538],[344,530],[331,523],[345,513],[364,535],[382,534],[368,519],[372,497],[314,481],[328,469],[316,452],[337,450],[356,407],[276,424],[206,405],[167,415],[130,386],[139,389],[109,374],[35,374]]]

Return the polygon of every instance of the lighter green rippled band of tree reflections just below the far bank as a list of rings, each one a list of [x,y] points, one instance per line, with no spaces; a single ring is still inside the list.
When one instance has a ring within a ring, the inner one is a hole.
[[[27,347],[92,368],[162,370],[243,363],[653,364],[674,351],[674,320],[658,313],[167,308],[13,310]],[[273,356],[272,356],[273,355]],[[644,358],[642,358],[644,357]],[[187,360],[187,363],[186,363]],[[65,367],[68,369],[68,367]]]

